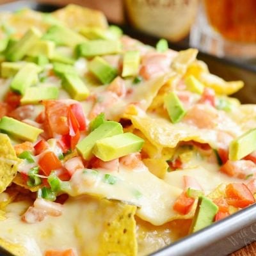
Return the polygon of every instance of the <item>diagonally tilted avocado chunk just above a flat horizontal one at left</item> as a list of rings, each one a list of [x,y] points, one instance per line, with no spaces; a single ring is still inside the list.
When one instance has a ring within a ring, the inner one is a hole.
[[[34,63],[26,63],[13,77],[11,89],[24,95],[26,89],[38,81],[38,72],[41,68]]]

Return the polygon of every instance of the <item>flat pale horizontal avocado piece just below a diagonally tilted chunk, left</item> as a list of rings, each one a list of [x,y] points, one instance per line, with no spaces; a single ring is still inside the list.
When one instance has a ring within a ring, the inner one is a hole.
[[[54,86],[35,86],[27,88],[24,96],[20,99],[21,104],[38,104],[40,100],[55,100],[59,97],[59,89]]]

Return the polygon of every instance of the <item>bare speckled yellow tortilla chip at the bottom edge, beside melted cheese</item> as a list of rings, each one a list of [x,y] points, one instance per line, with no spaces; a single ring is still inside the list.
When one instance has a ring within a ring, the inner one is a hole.
[[[105,223],[99,255],[137,255],[136,206],[117,204],[111,220]]]

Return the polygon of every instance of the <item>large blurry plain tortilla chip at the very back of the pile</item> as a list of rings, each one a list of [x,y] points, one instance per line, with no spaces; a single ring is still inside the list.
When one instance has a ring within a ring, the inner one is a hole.
[[[77,31],[87,26],[108,28],[108,21],[102,12],[76,4],[68,4],[65,8],[53,12],[52,15],[69,28],[76,28]]]

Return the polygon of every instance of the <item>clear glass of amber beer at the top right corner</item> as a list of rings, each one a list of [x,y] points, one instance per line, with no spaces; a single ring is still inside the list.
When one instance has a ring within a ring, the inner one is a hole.
[[[202,1],[190,44],[220,57],[256,58],[256,1]]]

